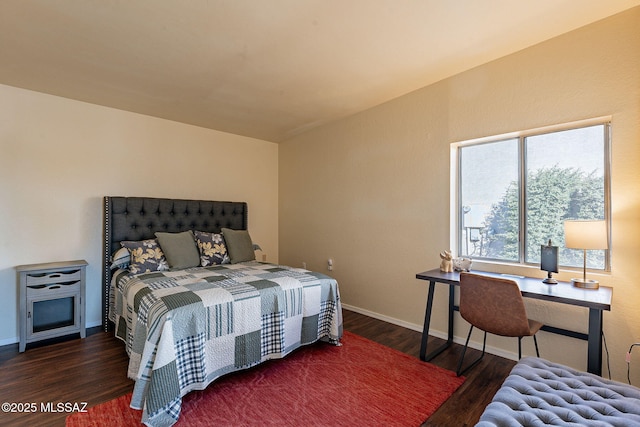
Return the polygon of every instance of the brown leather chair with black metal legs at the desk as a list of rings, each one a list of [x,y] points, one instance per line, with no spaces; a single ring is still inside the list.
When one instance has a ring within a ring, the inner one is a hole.
[[[471,328],[458,361],[458,369],[456,370],[458,376],[475,366],[484,357],[487,332],[505,337],[518,337],[518,359],[522,357],[522,337],[533,336],[536,355],[540,357],[535,334],[543,324],[527,318],[522,294],[518,284],[513,280],[460,273],[460,315],[471,323]],[[462,362],[474,327],[484,331],[482,354],[477,360],[462,369]]]

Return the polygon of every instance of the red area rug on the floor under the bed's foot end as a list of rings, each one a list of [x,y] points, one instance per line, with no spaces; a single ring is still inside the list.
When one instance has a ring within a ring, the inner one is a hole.
[[[183,398],[176,426],[419,426],[464,378],[349,332],[229,374]],[[67,427],[139,426],[125,395]]]

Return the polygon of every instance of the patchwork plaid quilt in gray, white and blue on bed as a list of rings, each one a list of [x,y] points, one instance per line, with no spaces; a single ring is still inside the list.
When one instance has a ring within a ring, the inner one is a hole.
[[[229,372],[281,358],[319,339],[337,343],[337,282],[258,262],[130,275],[111,282],[109,317],[126,344],[131,407],[170,426],[182,396]]]

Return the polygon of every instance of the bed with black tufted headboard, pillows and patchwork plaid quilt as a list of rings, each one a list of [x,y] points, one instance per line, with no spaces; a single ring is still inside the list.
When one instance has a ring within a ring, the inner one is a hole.
[[[247,218],[244,202],[104,198],[103,327],[125,343],[146,425],[174,424],[222,375],[339,344],[337,282],[255,261]]]

